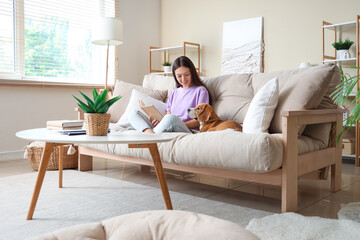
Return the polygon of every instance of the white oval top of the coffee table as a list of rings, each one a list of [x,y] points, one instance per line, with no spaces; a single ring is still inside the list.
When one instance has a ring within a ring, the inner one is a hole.
[[[42,141],[51,143],[87,143],[87,144],[146,144],[171,141],[174,137],[164,134],[139,133],[137,131],[108,133],[107,136],[88,136],[88,135],[64,135],[58,131],[46,128],[34,128],[23,130],[16,133],[16,136],[26,140]]]

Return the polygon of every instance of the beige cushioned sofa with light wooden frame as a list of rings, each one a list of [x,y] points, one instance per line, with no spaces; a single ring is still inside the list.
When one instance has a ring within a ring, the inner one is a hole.
[[[253,97],[274,77],[279,98],[269,133],[164,133],[175,136],[171,142],[158,144],[164,168],[281,186],[282,212],[297,211],[299,177],[325,179],[331,167],[331,190],[339,190],[341,139],[336,144],[335,136],[341,129],[342,111],[330,98],[340,81],[335,65],[225,75],[204,82],[219,117],[243,123]],[[159,75],[146,75],[143,86],[118,81],[114,95],[123,98],[109,110],[113,133],[129,131],[123,128],[126,124],[116,123],[126,111],[132,89],[166,101],[174,86],[172,77]],[[92,156],[153,165],[147,150],[122,144],[86,145],[79,146],[79,170],[92,169]]]

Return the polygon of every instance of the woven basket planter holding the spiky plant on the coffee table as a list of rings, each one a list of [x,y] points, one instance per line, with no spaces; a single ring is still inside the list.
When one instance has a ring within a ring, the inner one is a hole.
[[[86,134],[106,136],[109,130],[110,113],[85,113]]]

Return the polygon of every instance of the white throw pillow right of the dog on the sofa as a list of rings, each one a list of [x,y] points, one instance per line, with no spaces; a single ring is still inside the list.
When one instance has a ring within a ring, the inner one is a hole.
[[[279,100],[278,78],[268,81],[252,99],[243,122],[244,133],[267,133]]]

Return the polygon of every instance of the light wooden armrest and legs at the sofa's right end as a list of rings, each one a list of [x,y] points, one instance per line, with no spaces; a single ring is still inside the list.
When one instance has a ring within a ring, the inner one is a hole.
[[[331,190],[341,187],[341,145],[336,144],[336,136],[342,129],[342,109],[316,109],[301,111],[282,111],[283,164],[282,164],[282,211],[296,211],[298,177],[331,166]],[[298,153],[298,127],[305,124],[332,123],[331,140],[325,149]],[[295,196],[295,197],[294,197]]]

